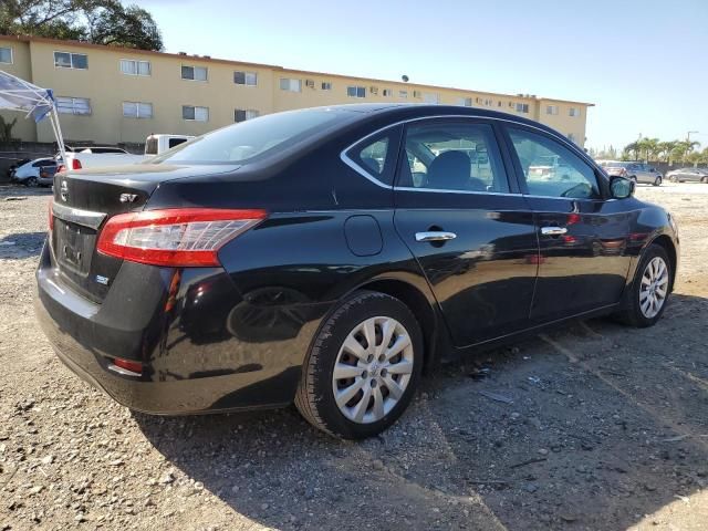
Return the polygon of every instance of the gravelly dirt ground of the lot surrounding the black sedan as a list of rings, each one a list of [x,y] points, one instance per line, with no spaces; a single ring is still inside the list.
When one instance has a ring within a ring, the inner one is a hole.
[[[708,529],[708,186],[637,190],[680,227],[656,326],[442,367],[356,444],[292,408],[132,414],[70,373],[32,312],[48,195],[0,187],[0,530]]]

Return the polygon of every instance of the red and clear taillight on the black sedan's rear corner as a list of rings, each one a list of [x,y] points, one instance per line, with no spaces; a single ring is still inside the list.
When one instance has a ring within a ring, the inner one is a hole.
[[[219,266],[219,249],[266,216],[264,210],[216,208],[121,214],[106,222],[97,249],[110,257],[152,266]]]

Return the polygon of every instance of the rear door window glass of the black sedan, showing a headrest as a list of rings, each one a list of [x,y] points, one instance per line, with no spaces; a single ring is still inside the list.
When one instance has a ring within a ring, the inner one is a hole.
[[[489,124],[437,122],[408,127],[398,186],[508,192],[509,183]]]

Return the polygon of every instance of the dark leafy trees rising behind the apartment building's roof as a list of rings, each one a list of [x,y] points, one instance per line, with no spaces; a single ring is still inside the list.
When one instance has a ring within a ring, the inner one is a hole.
[[[162,50],[153,17],[119,0],[2,0],[0,33]]]

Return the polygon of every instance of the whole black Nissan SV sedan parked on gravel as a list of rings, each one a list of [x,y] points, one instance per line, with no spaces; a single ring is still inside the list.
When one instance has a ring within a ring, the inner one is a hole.
[[[649,326],[678,233],[563,135],[472,108],[263,116],[55,176],[37,313],[129,408],[295,403],[372,436],[424,368],[572,319]]]

